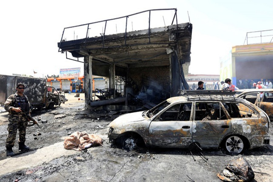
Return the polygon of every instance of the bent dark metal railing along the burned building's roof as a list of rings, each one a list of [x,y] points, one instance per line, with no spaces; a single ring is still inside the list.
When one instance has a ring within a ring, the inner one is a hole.
[[[125,28],[124,28],[124,29],[125,29],[125,33],[124,33],[124,35],[125,35],[124,45],[127,45],[127,44],[126,44],[126,35],[127,35],[127,20],[128,20],[128,18],[129,18],[130,16],[137,15],[137,14],[141,14],[141,13],[144,13],[144,12],[149,12],[149,27],[148,27],[149,43],[147,43],[147,44],[151,44],[151,40],[150,40],[150,33],[151,33],[151,32],[150,32],[150,29],[151,29],[151,27],[150,27],[150,22],[151,22],[150,20],[151,20],[151,19],[150,19],[150,18],[151,18],[151,12],[152,12],[152,11],[162,11],[162,10],[174,10],[174,11],[175,11],[174,17],[173,17],[173,19],[172,19],[171,25],[173,25],[174,19],[175,19],[175,20],[176,20],[176,26],[177,26],[177,29],[178,29],[178,24],[177,24],[177,8],[150,9],[150,10],[146,10],[146,11],[142,11],[142,12],[138,12],[138,13],[134,13],[134,14],[131,14],[131,15],[126,15],[126,16],[122,16],[122,17],[118,17],[118,18],[107,19],[107,20],[102,20],[102,21],[98,21],[98,22],[92,22],[92,23],[86,23],[86,24],[82,24],[82,25],[76,25],[76,26],[66,27],[66,28],[63,29],[63,32],[62,32],[62,38],[61,38],[61,40],[60,40],[58,52],[63,52],[63,51],[61,51],[60,49],[61,49],[61,44],[62,44],[62,42],[65,41],[65,40],[63,40],[63,35],[64,35],[64,32],[65,32],[66,29],[70,29],[70,28],[75,28],[75,27],[80,27],[80,26],[85,26],[85,25],[87,25],[86,37],[85,37],[84,48],[83,48],[83,49],[86,49],[86,42],[87,42],[87,39],[89,38],[89,37],[88,37],[88,33],[90,32],[89,25],[96,24],[96,23],[101,23],[101,22],[105,22],[104,32],[101,33],[101,36],[102,36],[102,39],[103,39],[103,46],[102,46],[102,48],[104,48],[104,38],[105,38],[105,31],[106,31],[107,22],[112,21],[112,20],[116,20],[116,19],[123,19],[123,18],[126,18],[126,26],[125,26]],[[163,17],[163,19],[164,19],[164,17]],[[165,22],[165,20],[164,20],[164,22]],[[157,43],[157,44],[160,44],[160,43]],[[75,50],[83,50],[83,49],[75,49]]]

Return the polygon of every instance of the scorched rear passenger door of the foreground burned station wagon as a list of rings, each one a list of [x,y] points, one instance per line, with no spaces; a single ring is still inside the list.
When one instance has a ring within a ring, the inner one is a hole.
[[[194,102],[192,141],[201,147],[218,147],[231,131],[231,120],[220,102]]]

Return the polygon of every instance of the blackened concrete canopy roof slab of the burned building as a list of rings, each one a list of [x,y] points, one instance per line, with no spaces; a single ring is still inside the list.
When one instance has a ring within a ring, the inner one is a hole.
[[[73,57],[93,57],[93,74],[109,76],[108,64],[116,65],[116,75],[124,76],[127,68],[169,66],[169,53],[190,62],[192,25],[183,23],[161,28],[59,42],[62,52]],[[189,64],[187,64],[189,65]],[[187,70],[187,69],[186,69]],[[185,73],[187,74],[187,73]]]

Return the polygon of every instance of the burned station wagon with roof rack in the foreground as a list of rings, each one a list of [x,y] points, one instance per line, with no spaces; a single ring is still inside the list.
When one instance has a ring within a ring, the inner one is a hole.
[[[126,150],[147,147],[224,147],[241,153],[269,144],[267,114],[229,91],[184,91],[150,110],[124,114],[109,124],[110,142]]]

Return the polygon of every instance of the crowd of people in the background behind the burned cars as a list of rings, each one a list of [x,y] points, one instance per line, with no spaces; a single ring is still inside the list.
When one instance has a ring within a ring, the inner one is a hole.
[[[220,83],[218,82],[213,82],[212,86],[209,85],[208,88],[206,88],[206,83],[199,81],[198,82],[198,87],[193,84],[191,86],[192,90],[199,90],[202,88],[202,90],[210,89],[210,90],[238,90],[238,89],[272,89],[272,82],[268,79],[264,81],[264,79],[261,79],[257,83],[255,83],[253,80],[248,81],[248,79],[242,80],[239,79],[236,86],[232,84],[231,79],[227,78],[225,81],[221,81]]]

